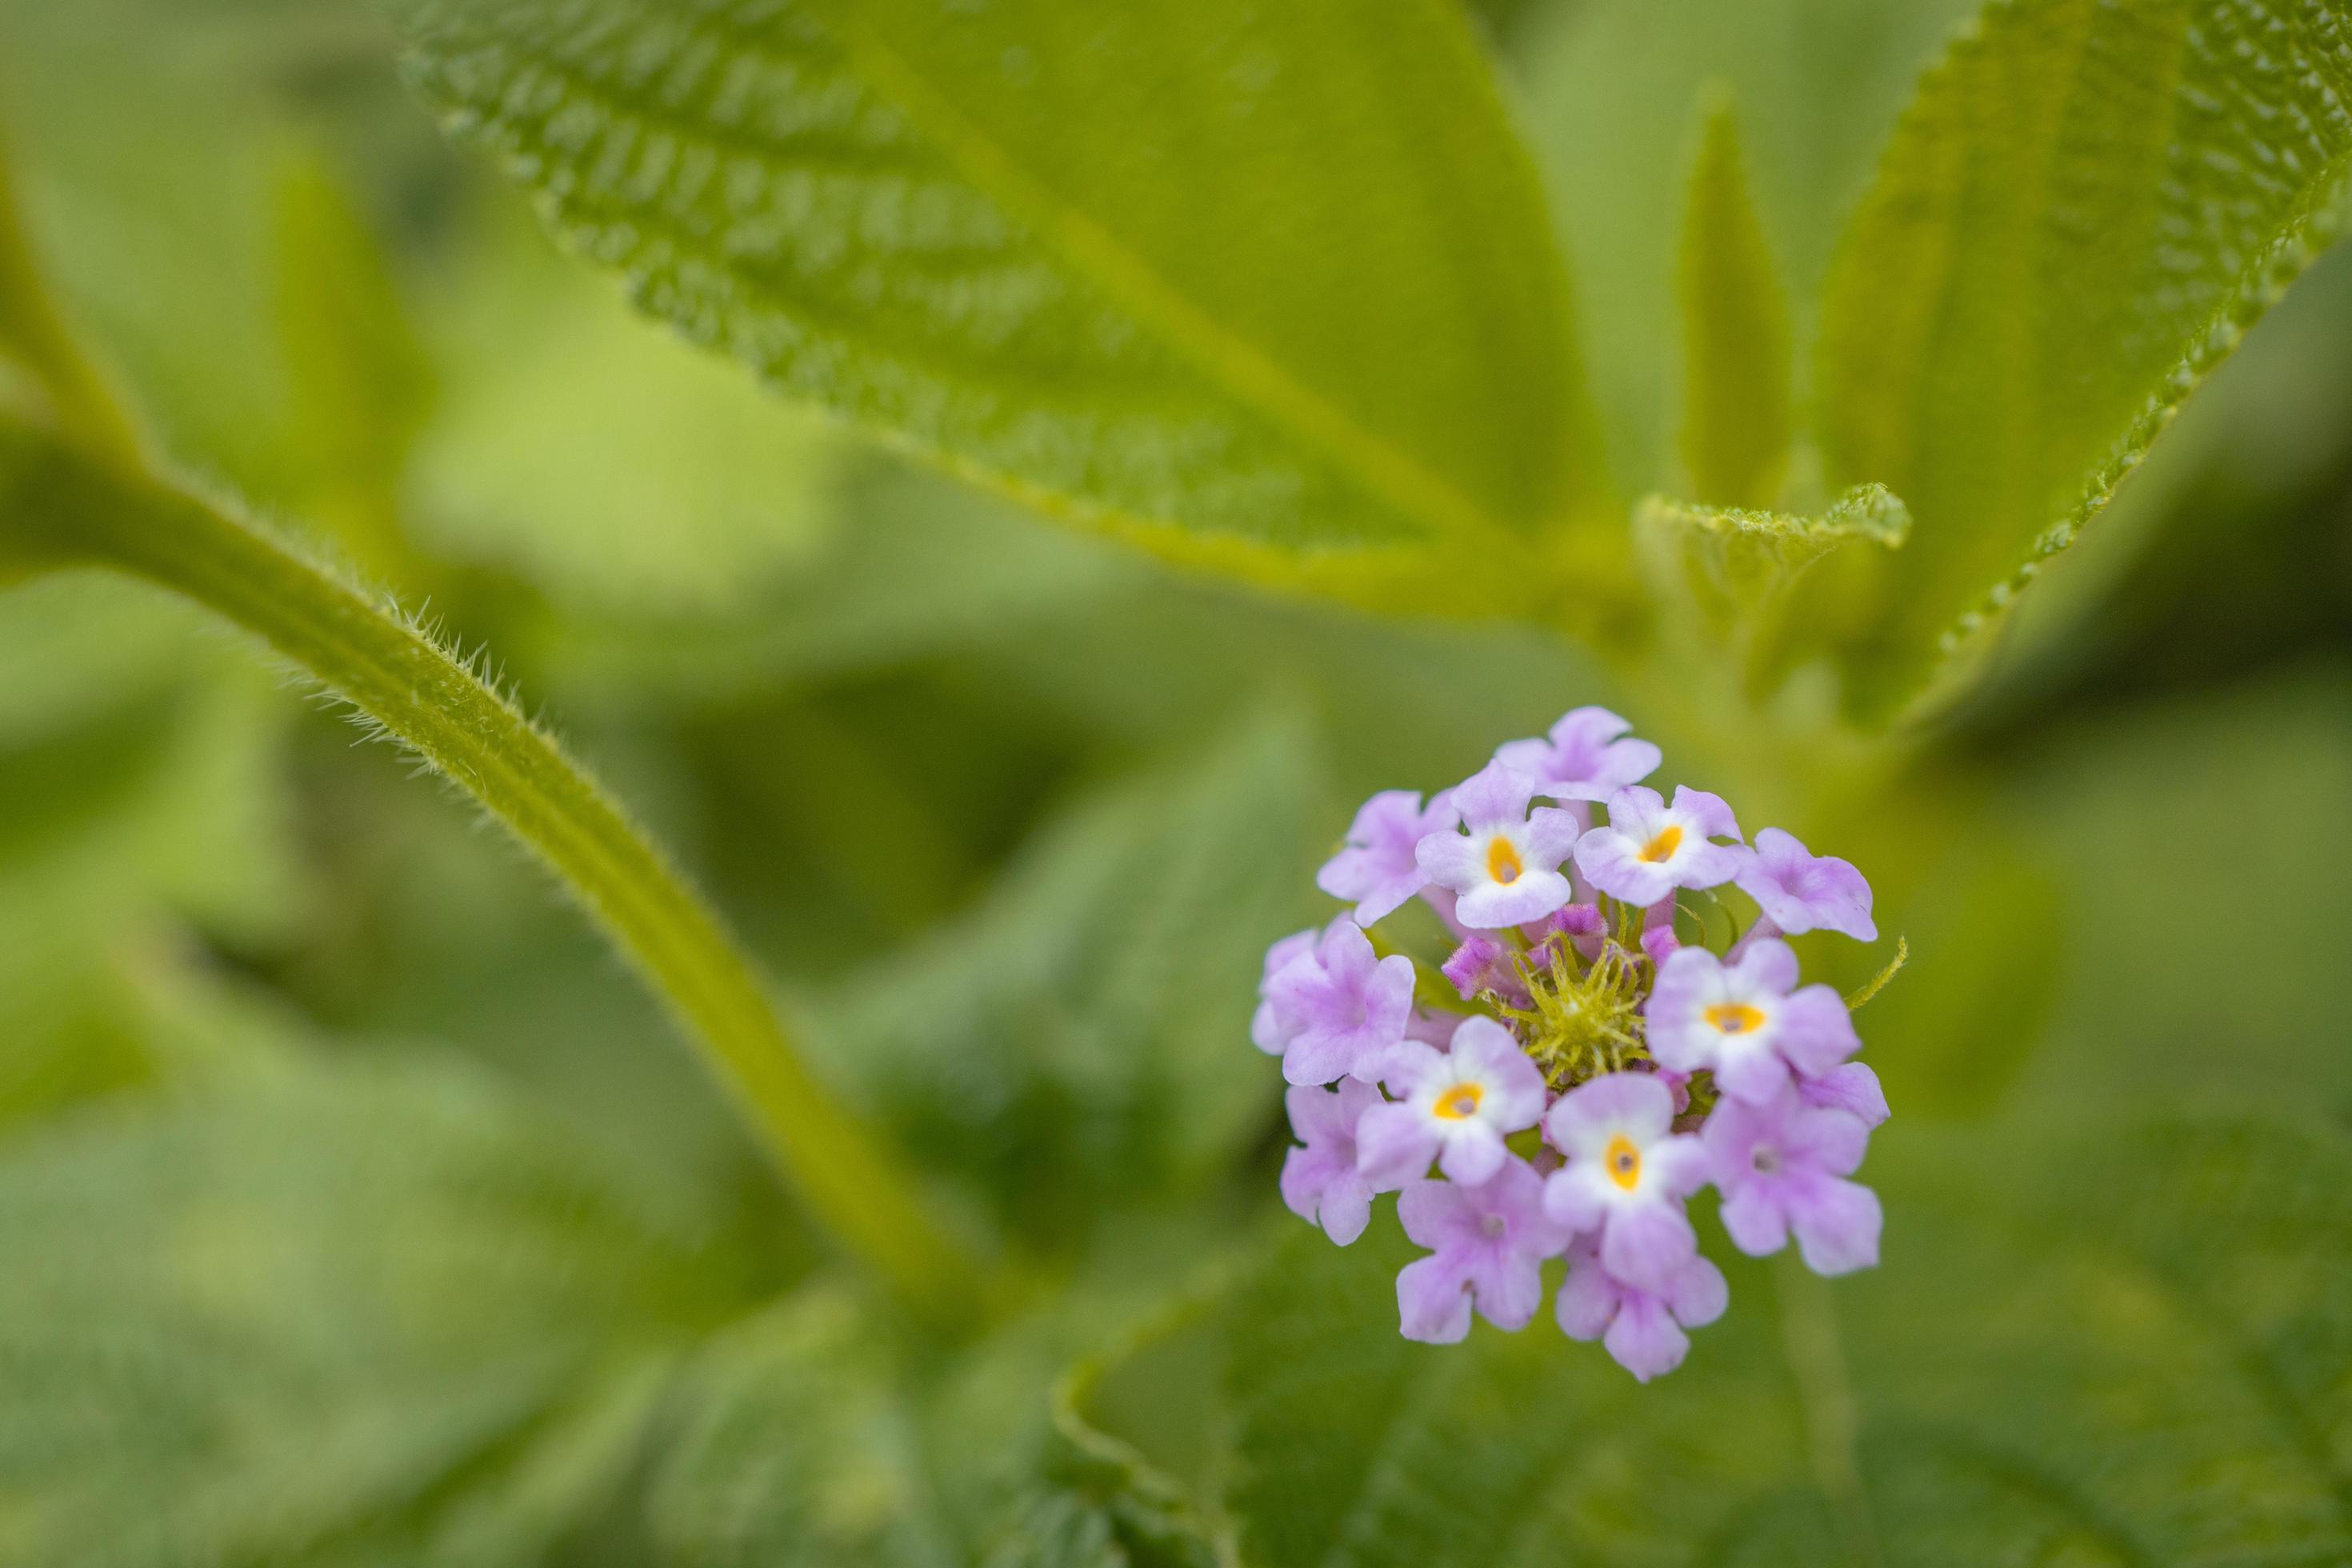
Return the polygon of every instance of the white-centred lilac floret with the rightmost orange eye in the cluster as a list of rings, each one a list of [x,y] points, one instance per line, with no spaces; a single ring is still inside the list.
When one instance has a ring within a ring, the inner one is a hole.
[[[1755,943],[1724,964],[1682,947],[1658,966],[1649,994],[1649,1051],[1661,1067],[1698,1072],[1736,1100],[1764,1105],[1790,1074],[1820,1077],[1863,1048],[1846,1001],[1828,985],[1797,983],[1788,943]]]

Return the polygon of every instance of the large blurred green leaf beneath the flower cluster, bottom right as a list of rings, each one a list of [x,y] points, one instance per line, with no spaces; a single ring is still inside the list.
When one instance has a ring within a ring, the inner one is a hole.
[[[2352,1552],[2352,1145],[2303,1121],[1872,1154],[1886,1262],[1731,1269],[1635,1385],[1550,1321],[1395,1333],[1378,1218],[1228,1307],[1216,1495],[1291,1563],[2321,1563]],[[1230,1427],[1225,1427],[1230,1422]]]

